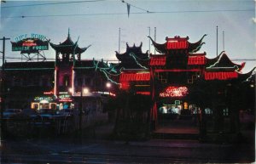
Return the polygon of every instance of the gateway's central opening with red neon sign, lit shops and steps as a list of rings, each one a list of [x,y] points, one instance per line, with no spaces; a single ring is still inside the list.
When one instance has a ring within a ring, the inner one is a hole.
[[[189,101],[188,87],[167,87],[160,91],[157,102],[157,125],[154,133],[199,135],[201,110]]]

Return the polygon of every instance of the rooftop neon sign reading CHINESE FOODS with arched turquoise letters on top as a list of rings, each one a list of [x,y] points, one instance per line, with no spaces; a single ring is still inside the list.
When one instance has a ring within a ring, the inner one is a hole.
[[[15,37],[15,42],[12,43],[12,51],[21,51],[22,54],[38,53],[40,50],[48,50],[49,43],[44,35],[23,34]]]

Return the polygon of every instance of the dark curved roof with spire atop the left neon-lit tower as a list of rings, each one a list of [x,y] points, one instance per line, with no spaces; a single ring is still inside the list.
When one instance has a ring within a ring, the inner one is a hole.
[[[73,42],[68,31],[67,39],[64,42],[60,42],[60,44],[49,42],[49,45],[61,54],[82,54],[90,45],[87,48],[79,48],[78,41]]]

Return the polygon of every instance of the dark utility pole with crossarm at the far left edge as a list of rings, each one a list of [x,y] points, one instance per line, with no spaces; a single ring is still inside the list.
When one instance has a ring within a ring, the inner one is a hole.
[[[1,139],[0,139],[0,145],[2,144],[2,142],[1,142],[1,140],[3,139],[3,110],[4,110],[4,100],[5,100],[5,98],[4,98],[4,81],[5,81],[5,79],[4,79],[4,57],[5,57],[5,41],[6,40],[9,40],[10,38],[6,38],[6,37],[3,37],[3,38],[0,38],[0,40],[1,41],[3,41],[3,51],[1,51],[0,53],[2,53],[3,54],[3,56],[2,56],[2,59],[3,59],[3,63],[2,63],[2,75],[1,75],[1,111],[0,111],[0,113],[1,113],[1,122],[0,122],[0,137],[1,137]]]

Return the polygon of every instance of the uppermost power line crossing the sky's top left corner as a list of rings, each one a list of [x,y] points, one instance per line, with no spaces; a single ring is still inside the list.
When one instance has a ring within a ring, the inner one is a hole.
[[[3,6],[2,8],[22,8],[22,7],[33,7],[33,6],[45,6],[45,5],[56,5],[56,4],[68,4],[68,3],[95,3],[105,0],[89,0],[89,1],[73,1],[73,2],[60,2],[60,3],[39,3],[39,4],[24,4],[16,6]]]

